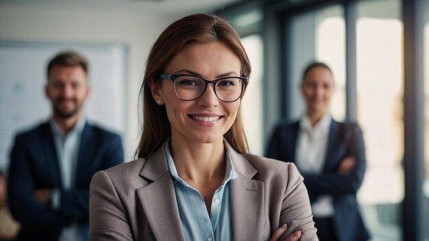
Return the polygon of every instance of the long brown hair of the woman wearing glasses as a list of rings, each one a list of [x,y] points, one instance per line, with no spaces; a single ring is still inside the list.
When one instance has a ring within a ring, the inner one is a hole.
[[[152,97],[149,80],[160,81],[156,76],[169,64],[185,45],[193,42],[209,43],[220,41],[228,45],[241,61],[241,76],[249,77],[249,58],[240,37],[232,26],[222,18],[207,14],[194,14],[175,21],[156,40],[147,58],[145,78],[140,87],[143,96],[143,132],[136,150],[137,157],[147,157],[171,136],[171,127],[165,105],[158,105]],[[224,135],[231,146],[240,153],[247,152],[247,140],[243,131],[241,111]]]

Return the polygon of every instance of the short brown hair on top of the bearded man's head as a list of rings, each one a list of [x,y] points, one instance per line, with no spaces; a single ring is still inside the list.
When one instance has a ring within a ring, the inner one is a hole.
[[[88,62],[86,62],[86,59],[82,57],[82,55],[79,55],[78,53],[73,51],[64,51],[58,53],[58,55],[56,55],[49,61],[47,68],[48,77],[49,73],[51,73],[53,66],[55,65],[71,67],[81,66],[84,69],[85,74],[88,75]]]

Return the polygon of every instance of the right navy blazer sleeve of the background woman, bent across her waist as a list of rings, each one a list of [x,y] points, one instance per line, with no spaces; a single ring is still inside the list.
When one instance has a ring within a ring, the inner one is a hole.
[[[356,158],[356,166],[349,173],[321,173],[317,175],[303,173],[308,192],[316,195],[340,196],[356,194],[360,188],[366,168],[365,144],[362,130],[358,125],[349,125],[348,128],[351,128],[351,137],[350,140],[345,140],[347,155]]]

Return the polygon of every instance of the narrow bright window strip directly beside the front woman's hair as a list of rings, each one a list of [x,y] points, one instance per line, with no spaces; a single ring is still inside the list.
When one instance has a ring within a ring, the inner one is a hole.
[[[262,38],[258,34],[242,38],[243,46],[252,64],[252,73],[249,84],[243,97],[241,111],[243,113],[243,125],[249,144],[250,153],[262,155],[264,147],[262,138]]]

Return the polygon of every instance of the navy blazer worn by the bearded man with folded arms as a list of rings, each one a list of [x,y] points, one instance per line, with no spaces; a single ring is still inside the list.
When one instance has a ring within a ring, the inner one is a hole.
[[[49,123],[18,134],[10,155],[8,201],[21,223],[17,240],[58,240],[63,227],[78,223],[88,231],[89,184],[94,173],[123,162],[121,138],[86,123],[79,147],[75,187],[62,188],[53,134]],[[60,190],[60,210],[34,199],[34,190]]]

